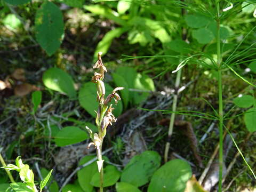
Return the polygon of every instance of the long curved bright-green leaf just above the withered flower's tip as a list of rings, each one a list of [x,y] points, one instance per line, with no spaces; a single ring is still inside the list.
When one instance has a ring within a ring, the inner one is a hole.
[[[95,49],[94,60],[97,60],[99,52],[102,52],[101,56],[105,55],[108,52],[108,49],[109,49],[113,39],[122,35],[126,30],[127,30],[127,28],[123,27],[123,28],[116,28],[116,29],[108,31],[108,33],[105,34],[105,36],[98,43],[98,45]]]

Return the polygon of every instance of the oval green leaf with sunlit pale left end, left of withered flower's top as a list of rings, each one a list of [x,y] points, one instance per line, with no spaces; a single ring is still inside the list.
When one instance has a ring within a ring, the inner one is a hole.
[[[43,83],[51,90],[65,93],[69,98],[76,97],[76,90],[72,77],[58,68],[50,68],[43,74]]]

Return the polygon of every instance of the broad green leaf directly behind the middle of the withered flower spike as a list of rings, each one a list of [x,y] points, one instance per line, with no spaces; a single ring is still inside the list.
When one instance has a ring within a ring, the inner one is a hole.
[[[113,88],[105,83],[105,89],[106,89],[106,94],[105,98],[107,95],[109,95],[112,91]],[[93,117],[96,117],[96,113],[94,110],[98,110],[98,105],[99,103],[97,102],[97,86],[95,83],[88,82],[83,84],[81,89],[79,90],[79,95],[78,95],[79,103],[80,105]],[[111,101],[113,103],[113,107],[115,110],[113,111],[113,114],[118,117],[123,110],[123,104],[122,102],[118,102],[117,105],[115,105],[114,100]]]

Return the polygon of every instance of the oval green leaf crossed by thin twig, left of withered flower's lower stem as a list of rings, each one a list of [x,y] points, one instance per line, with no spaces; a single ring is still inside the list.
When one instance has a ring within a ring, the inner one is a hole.
[[[94,157],[95,156],[85,156],[79,161],[79,165],[83,165],[89,162]],[[95,173],[99,173],[96,162],[93,162],[90,165],[85,166],[83,169],[77,172],[79,185],[85,192],[92,192],[93,186],[90,184],[90,181]]]

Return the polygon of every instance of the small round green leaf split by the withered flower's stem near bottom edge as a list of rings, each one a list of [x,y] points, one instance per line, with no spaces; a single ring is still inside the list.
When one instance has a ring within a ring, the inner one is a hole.
[[[113,186],[120,178],[120,171],[113,165],[108,165],[104,168],[103,187]],[[91,179],[91,185],[100,187],[100,174],[94,173]]]

